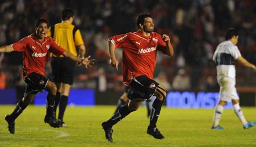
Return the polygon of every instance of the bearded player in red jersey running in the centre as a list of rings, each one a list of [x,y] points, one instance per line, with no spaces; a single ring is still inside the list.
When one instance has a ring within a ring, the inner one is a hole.
[[[102,123],[109,142],[113,142],[113,125],[137,110],[140,104],[153,94],[156,99],[150,113],[147,133],[156,139],[165,138],[156,128],[156,122],[166,97],[166,90],[153,80],[153,74],[157,51],[172,56],[173,47],[169,36],[166,34],[161,36],[154,32],[154,23],[150,14],[141,13],[136,18],[136,24],[139,27],[137,32],[120,34],[108,39],[110,65],[116,70],[118,70],[119,61],[115,57],[114,50],[119,47],[123,48],[123,83],[130,87],[127,94],[130,99],[129,103],[117,110],[108,121]]]

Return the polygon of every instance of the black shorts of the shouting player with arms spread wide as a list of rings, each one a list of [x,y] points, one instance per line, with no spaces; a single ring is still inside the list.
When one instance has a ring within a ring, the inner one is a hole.
[[[25,93],[35,93],[43,92],[43,89],[47,85],[49,81],[45,76],[32,72],[28,76],[24,78],[25,82],[27,83],[27,87],[25,89]]]

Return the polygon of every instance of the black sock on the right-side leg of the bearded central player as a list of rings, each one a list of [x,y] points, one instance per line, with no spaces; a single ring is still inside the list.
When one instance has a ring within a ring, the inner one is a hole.
[[[150,113],[150,123],[149,123],[150,128],[156,127],[156,122],[160,115],[162,104],[163,104],[163,101],[160,101],[157,98],[153,102],[151,113]]]

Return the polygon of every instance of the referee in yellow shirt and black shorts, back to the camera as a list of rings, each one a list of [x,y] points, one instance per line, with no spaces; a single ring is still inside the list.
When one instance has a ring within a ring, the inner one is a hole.
[[[74,11],[71,9],[64,9],[62,11],[62,22],[49,27],[48,35],[66,51],[69,51],[76,56],[78,55],[80,58],[84,58],[84,54],[86,54],[86,46],[84,46],[80,30],[72,24],[73,20]],[[76,47],[78,48],[78,53]],[[74,81],[75,65],[76,62],[71,59],[63,56],[56,57],[56,55],[52,54],[51,70],[54,78],[53,80],[57,86],[54,115],[56,116],[56,109],[58,104],[60,104],[58,123],[60,123],[62,127],[67,127],[63,122],[63,116],[68,104],[70,87],[73,85]]]

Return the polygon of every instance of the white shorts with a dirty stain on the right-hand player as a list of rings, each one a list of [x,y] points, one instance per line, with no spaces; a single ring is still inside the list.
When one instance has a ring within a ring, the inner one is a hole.
[[[239,100],[237,89],[235,88],[235,79],[227,76],[220,76],[217,78],[220,86],[221,101],[230,102],[232,99]]]

